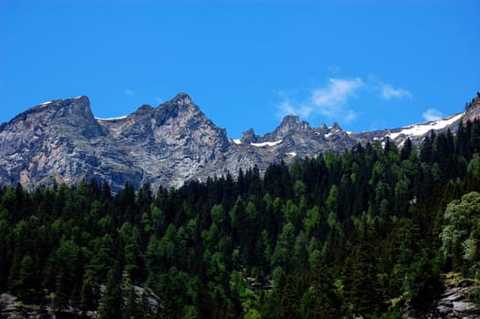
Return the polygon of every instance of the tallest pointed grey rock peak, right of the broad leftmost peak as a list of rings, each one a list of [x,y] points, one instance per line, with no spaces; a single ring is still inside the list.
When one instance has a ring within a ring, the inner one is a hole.
[[[110,145],[122,149],[140,172],[136,186],[150,182],[177,187],[198,179],[199,172],[224,161],[229,146],[224,129],[206,118],[186,94],[158,108],[142,106],[126,118],[98,122]]]

